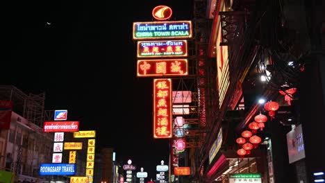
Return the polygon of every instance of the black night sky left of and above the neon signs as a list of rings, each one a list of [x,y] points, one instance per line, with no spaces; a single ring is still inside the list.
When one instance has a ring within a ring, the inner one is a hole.
[[[153,21],[167,5],[171,20],[192,20],[192,0],[9,1],[0,85],[45,92],[45,110],[68,110],[80,130],[97,131],[97,147],[144,168],[168,161],[166,139],[153,139],[152,81],[136,77],[133,21]]]

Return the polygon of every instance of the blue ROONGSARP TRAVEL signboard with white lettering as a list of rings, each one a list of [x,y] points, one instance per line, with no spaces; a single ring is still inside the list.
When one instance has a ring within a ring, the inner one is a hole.
[[[40,175],[74,175],[76,164],[40,164]]]

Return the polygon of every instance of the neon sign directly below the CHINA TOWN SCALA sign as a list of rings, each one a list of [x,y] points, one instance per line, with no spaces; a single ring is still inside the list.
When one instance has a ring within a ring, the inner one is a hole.
[[[138,42],[138,58],[186,56],[188,56],[187,40]]]

